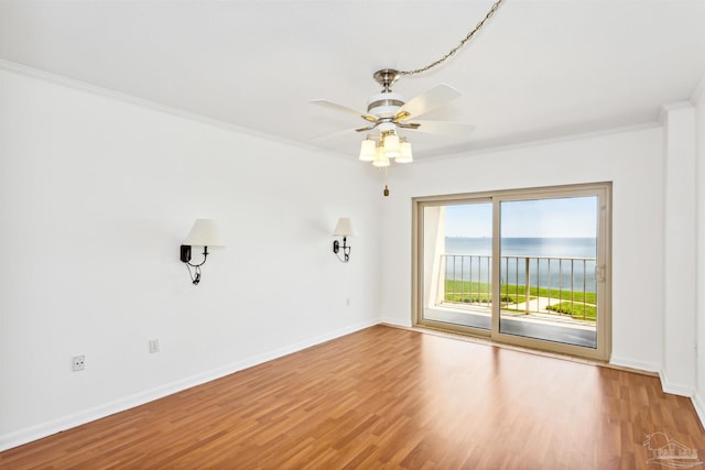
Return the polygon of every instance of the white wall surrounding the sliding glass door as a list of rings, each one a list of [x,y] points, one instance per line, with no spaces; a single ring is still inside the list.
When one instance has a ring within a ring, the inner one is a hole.
[[[390,171],[382,217],[382,317],[410,325],[411,198],[588,182],[612,186],[611,362],[663,359],[663,133],[660,127],[416,162]]]

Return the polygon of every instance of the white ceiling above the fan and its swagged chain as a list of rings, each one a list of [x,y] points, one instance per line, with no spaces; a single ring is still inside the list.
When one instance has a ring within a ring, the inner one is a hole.
[[[0,0],[0,58],[355,159],[380,68],[440,58],[491,0]],[[505,0],[458,54],[393,87],[463,96],[408,134],[416,159],[655,122],[705,75],[705,0]]]

